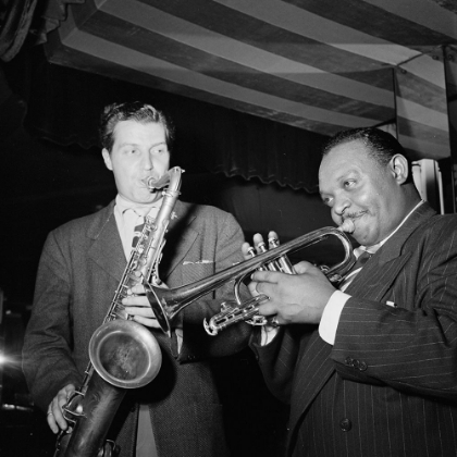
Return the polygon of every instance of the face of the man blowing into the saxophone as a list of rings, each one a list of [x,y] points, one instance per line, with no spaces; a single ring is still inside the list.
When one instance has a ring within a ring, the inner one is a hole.
[[[151,203],[161,198],[150,193],[144,180],[159,178],[170,166],[165,129],[162,124],[121,121],[114,128],[111,153],[102,150],[104,163],[114,173],[119,194],[134,203]]]

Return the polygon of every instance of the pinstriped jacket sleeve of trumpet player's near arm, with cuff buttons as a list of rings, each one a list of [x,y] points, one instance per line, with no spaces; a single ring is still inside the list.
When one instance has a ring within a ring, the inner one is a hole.
[[[331,357],[345,379],[457,399],[456,219],[405,246],[410,258],[386,294],[394,306],[351,297]]]

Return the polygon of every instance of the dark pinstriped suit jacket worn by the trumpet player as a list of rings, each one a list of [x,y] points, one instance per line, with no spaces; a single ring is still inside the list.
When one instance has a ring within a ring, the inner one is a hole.
[[[457,217],[419,207],[346,293],[334,346],[313,325],[252,346],[288,455],[456,456]]]

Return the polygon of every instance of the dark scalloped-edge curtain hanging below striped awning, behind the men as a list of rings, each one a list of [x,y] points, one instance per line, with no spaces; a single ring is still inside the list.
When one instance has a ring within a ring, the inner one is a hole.
[[[53,65],[38,55],[28,64],[27,129],[60,145],[98,147],[99,114],[107,103],[145,100],[176,127],[173,161],[192,172],[258,177],[316,193],[325,136],[149,87]]]

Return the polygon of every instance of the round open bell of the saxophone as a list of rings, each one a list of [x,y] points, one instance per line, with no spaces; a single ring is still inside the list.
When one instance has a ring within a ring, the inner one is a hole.
[[[137,322],[122,319],[106,322],[94,332],[89,357],[100,378],[122,388],[148,384],[162,363],[152,333]]]

